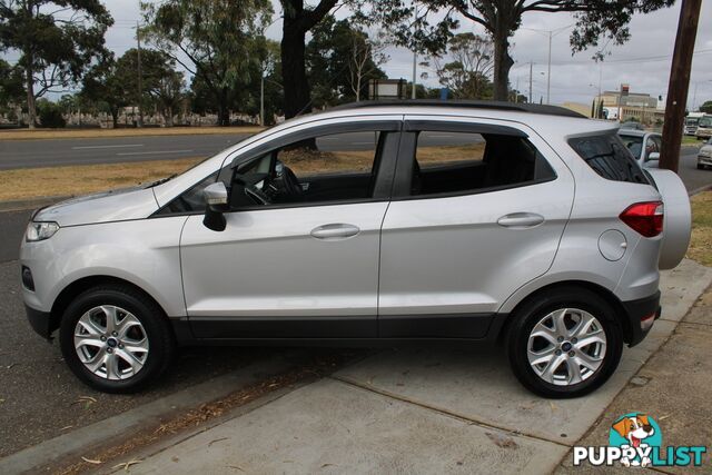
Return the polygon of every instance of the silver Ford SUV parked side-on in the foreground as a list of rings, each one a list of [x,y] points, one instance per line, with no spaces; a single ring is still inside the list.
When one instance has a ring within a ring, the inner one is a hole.
[[[498,343],[546,397],[601,386],[690,240],[679,177],[546,106],[359,103],[169,180],[38,210],[32,327],[132,392],[178,345]]]

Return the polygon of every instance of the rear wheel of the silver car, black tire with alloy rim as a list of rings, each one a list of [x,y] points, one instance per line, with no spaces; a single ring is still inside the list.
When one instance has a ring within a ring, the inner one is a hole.
[[[565,328],[557,331],[552,324],[560,316]],[[593,291],[573,286],[545,291],[525,301],[513,318],[506,335],[512,370],[540,396],[584,396],[603,385],[621,360],[623,334],[616,313]]]

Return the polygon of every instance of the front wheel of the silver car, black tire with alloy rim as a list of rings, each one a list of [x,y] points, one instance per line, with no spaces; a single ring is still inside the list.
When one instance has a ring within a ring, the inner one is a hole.
[[[100,286],[80,294],[62,315],[59,337],[72,373],[103,393],[142,389],[166,372],[175,350],[164,311],[128,286]]]

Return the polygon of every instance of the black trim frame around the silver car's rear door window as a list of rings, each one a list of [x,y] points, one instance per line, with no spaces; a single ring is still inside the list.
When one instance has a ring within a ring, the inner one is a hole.
[[[490,123],[471,123],[463,121],[447,121],[447,120],[406,120],[404,125],[404,131],[400,133],[400,148],[398,150],[398,161],[396,164],[396,177],[393,182],[393,190],[390,192],[390,201],[412,201],[418,199],[441,199],[441,198],[456,198],[463,196],[482,195],[486,192],[504,191],[514,188],[530,187],[534,185],[546,184],[558,179],[556,169],[550,164],[550,160],[542,154],[528,138],[530,136],[524,131],[514,127],[490,125]],[[518,137],[527,139],[534,147],[537,155],[540,155],[552,170],[553,176],[548,178],[540,178],[528,181],[522,181],[520,184],[501,185],[496,187],[474,188],[464,191],[448,191],[431,195],[411,195],[411,181],[413,178],[413,164],[417,154],[417,139],[418,133],[424,131],[447,131],[454,133],[490,133]]]

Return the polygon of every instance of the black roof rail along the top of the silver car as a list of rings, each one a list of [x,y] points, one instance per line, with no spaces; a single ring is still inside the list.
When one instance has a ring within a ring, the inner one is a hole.
[[[587,119],[586,116],[558,106],[546,106],[540,103],[514,103],[497,100],[437,100],[437,99],[388,99],[388,100],[363,100],[336,106],[327,110],[349,110],[365,107],[448,107],[463,109],[494,109],[510,110],[513,112],[543,113],[546,116],[572,117],[576,119]]]

